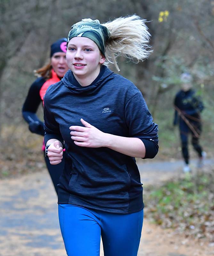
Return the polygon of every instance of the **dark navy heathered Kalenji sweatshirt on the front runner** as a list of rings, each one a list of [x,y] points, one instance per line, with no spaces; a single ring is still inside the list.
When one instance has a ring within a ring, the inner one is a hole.
[[[158,126],[133,83],[102,66],[95,81],[83,87],[68,70],[44,97],[45,143],[55,138],[66,149],[58,203],[114,213],[140,211],[143,188],[135,158],[106,147],[76,146],[69,127],[83,126],[81,118],[102,132],[141,139],[145,158],[158,151]]]

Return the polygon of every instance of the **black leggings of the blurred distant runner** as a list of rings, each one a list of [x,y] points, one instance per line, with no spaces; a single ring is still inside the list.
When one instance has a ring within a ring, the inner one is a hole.
[[[190,121],[190,120],[189,120]],[[201,134],[202,125],[201,122],[191,122],[195,131],[198,135]],[[189,164],[189,152],[188,152],[188,133],[191,133],[192,136],[192,145],[194,150],[198,153],[199,157],[202,157],[202,147],[199,145],[199,138],[197,138],[193,131],[188,127],[188,125],[182,120],[179,124],[180,128],[180,138],[181,138],[181,147],[182,147],[182,155],[184,157],[184,161],[186,164]]]

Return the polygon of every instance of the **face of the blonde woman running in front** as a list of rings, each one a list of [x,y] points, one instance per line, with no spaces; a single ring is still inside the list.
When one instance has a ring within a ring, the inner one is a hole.
[[[91,39],[73,37],[67,45],[66,60],[77,80],[87,80],[90,84],[99,75],[100,64],[105,62],[105,57]]]

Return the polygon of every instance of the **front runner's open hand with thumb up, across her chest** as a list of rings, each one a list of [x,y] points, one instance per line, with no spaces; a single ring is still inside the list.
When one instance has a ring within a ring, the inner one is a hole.
[[[71,139],[74,140],[75,145],[89,148],[105,147],[107,133],[101,132],[82,118],[80,121],[85,127],[75,125],[69,127]]]

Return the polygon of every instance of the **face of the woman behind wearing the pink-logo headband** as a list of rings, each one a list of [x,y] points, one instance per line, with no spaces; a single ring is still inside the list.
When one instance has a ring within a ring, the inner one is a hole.
[[[57,76],[63,77],[68,70],[65,52],[55,52],[51,57],[51,65]]]

